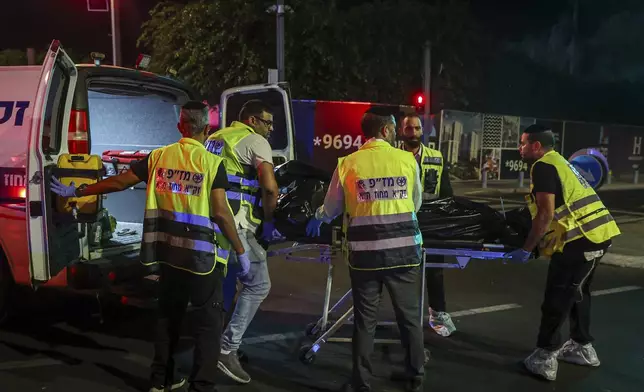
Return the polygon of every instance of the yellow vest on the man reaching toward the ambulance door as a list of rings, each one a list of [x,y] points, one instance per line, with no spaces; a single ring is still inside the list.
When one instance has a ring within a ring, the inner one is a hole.
[[[190,138],[156,149],[148,159],[141,262],[164,263],[197,275],[211,273],[218,249],[210,219],[210,190],[222,159]]]

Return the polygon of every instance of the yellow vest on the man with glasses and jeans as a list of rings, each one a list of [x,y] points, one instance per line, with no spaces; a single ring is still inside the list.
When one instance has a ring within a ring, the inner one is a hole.
[[[246,124],[233,121],[230,127],[220,129],[208,137],[206,149],[224,159],[228,182],[231,188],[226,192],[233,215],[237,215],[242,205],[248,207],[248,220],[259,226],[261,221],[261,193],[257,170],[244,165],[235,153],[235,146],[255,131]]]

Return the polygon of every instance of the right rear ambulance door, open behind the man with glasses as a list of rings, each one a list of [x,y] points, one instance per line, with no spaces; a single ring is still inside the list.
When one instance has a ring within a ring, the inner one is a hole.
[[[293,109],[291,93],[286,83],[257,84],[234,87],[221,95],[220,127],[228,127],[236,121],[244,103],[258,99],[273,109],[273,132],[269,142],[273,147],[275,166],[295,159],[295,129],[293,126]]]

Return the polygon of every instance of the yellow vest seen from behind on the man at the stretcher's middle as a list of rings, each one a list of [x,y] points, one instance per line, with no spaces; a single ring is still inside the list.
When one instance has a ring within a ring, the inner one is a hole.
[[[413,155],[377,139],[338,158],[345,202],[343,250],[352,269],[421,263],[422,235],[412,195],[416,170]]]

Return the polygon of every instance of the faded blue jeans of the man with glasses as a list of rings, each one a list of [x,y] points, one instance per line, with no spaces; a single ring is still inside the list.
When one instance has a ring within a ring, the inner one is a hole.
[[[235,351],[239,348],[242,337],[251,321],[253,321],[259,305],[271,290],[266,251],[257,243],[254,234],[250,231],[240,230],[239,238],[244,245],[244,249],[248,252],[251,265],[247,277],[241,281],[242,289],[237,298],[237,305],[221,338],[221,349],[223,351]],[[234,252],[231,253],[228,266],[228,277],[236,276],[239,271],[239,262]],[[230,279],[227,280],[230,281]]]

